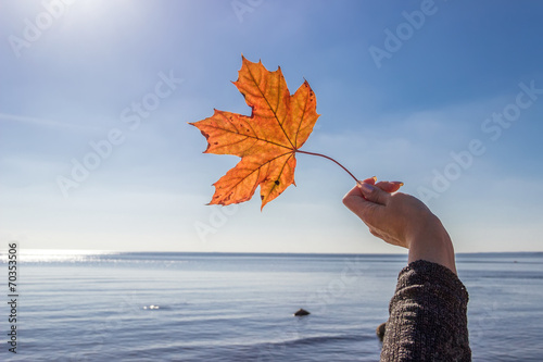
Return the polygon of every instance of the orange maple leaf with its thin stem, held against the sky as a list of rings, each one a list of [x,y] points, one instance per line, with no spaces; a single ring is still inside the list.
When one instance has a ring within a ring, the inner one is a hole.
[[[281,68],[267,71],[262,62],[242,55],[238,80],[233,82],[252,108],[251,116],[215,110],[211,117],[189,123],[207,139],[204,153],[235,154],[241,161],[215,184],[210,204],[248,201],[261,187],[262,208],[294,183],[295,153],[301,151],[317,121],[315,93],[305,80],[290,95]],[[345,167],[343,167],[355,180]]]

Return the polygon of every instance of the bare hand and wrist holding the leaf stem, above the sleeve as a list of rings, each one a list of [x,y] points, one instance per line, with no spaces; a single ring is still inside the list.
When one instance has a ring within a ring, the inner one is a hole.
[[[409,263],[427,260],[456,273],[451,237],[435,216],[417,198],[396,191],[402,183],[375,178],[358,183],[343,198],[343,203],[388,244],[409,249]]]

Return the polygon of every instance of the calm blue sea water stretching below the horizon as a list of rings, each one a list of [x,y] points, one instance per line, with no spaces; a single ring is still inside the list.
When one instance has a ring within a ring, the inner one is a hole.
[[[26,261],[25,261],[26,260]],[[7,280],[5,254],[2,274]],[[403,255],[54,253],[18,264],[1,361],[378,361]],[[543,253],[457,257],[473,361],[541,361]],[[4,285],[4,283],[2,283]],[[304,308],[312,314],[293,316]]]

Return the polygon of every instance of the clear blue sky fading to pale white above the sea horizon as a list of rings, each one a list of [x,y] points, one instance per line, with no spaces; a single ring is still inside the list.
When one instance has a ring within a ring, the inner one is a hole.
[[[26,249],[403,252],[299,154],[296,186],[206,205],[239,161],[188,125],[250,115],[241,54],[320,117],[303,150],[402,180],[457,252],[542,251],[540,1],[0,1],[0,239]]]

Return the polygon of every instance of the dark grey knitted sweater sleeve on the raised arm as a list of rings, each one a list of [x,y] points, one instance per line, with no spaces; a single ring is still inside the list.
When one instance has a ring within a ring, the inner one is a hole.
[[[447,267],[418,260],[400,272],[381,361],[471,361],[468,292]]]

